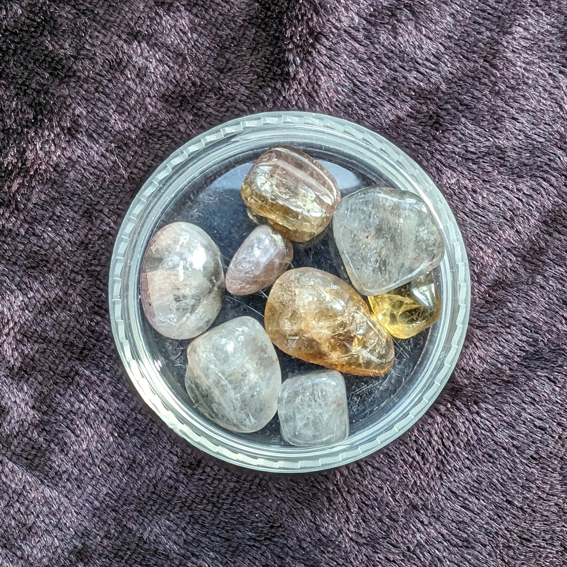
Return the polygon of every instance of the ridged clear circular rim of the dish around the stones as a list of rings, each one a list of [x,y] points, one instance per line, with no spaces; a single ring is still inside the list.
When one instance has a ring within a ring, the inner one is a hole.
[[[420,194],[434,214],[443,238],[441,317],[431,328],[413,369],[417,382],[393,411],[344,441],[323,447],[270,445],[211,424],[182,403],[164,382],[142,330],[139,271],[143,251],[160,214],[187,180],[219,159],[240,155],[252,144],[276,145],[285,137],[340,146],[361,163],[379,163],[398,187]],[[176,183],[171,180],[176,178]],[[308,472],[346,464],[386,446],[411,427],[441,393],[462,349],[471,282],[466,249],[455,217],[433,180],[412,158],[386,138],[354,122],[296,111],[244,116],[192,138],[150,175],[134,197],[112,252],[109,310],[117,352],[126,373],[147,405],[193,446],[226,462],[259,471]]]

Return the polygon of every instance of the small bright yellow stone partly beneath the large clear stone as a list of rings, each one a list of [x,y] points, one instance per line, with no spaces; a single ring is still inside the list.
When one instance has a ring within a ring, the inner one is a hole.
[[[391,335],[409,338],[439,319],[441,300],[431,273],[382,295],[370,295],[370,307]]]

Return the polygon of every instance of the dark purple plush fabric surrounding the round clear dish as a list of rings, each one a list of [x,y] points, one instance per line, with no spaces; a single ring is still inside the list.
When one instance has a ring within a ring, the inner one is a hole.
[[[567,564],[567,4],[0,2],[0,565]],[[307,476],[200,454],[134,395],[107,277],[134,194],[270,109],[360,122],[462,227],[462,357],[379,453]]]

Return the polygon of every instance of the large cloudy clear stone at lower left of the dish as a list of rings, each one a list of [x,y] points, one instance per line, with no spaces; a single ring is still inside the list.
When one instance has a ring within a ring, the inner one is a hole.
[[[280,363],[262,325],[238,317],[187,348],[185,387],[195,408],[225,429],[251,433],[277,411]]]

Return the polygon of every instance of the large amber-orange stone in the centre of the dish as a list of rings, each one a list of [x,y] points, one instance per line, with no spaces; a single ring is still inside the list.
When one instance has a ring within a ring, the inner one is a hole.
[[[285,353],[339,372],[381,376],[393,364],[392,337],[358,292],[315,268],[289,270],[278,278],[264,325]]]

